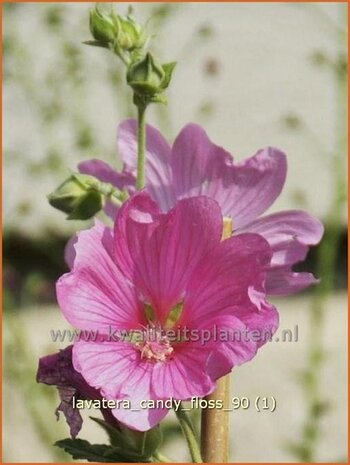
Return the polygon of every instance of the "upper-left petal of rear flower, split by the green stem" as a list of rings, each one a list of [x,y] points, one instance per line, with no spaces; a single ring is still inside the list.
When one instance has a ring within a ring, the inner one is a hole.
[[[126,120],[118,128],[118,152],[128,171],[136,175],[137,124]],[[169,210],[175,203],[170,170],[170,147],[161,133],[147,126],[146,129],[146,184],[147,191],[162,211]]]

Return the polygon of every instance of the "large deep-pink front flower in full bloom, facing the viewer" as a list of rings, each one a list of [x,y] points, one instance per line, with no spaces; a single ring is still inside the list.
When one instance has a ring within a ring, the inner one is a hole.
[[[96,221],[78,234],[57,298],[73,326],[100,337],[75,343],[74,368],[106,399],[130,400],[132,409],[112,412],[131,428],[147,430],[168,411],[142,408],[141,400],[209,394],[278,326],[264,292],[270,246],[252,233],[221,241],[222,227],[220,207],[208,197],[162,213],[140,192],[120,209],[114,231]],[[130,337],[111,339],[111,329]],[[190,333],[174,339],[171,329]]]

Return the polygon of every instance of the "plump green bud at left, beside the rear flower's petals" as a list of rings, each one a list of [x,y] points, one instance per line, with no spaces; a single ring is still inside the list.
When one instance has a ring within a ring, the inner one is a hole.
[[[49,204],[67,213],[69,220],[87,220],[104,205],[98,185],[98,180],[93,176],[72,174],[48,196]]]

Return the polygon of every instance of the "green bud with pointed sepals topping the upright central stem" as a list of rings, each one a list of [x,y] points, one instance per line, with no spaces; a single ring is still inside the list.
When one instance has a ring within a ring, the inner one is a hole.
[[[175,63],[161,65],[150,53],[133,63],[127,72],[127,82],[135,94],[154,97],[169,85]]]

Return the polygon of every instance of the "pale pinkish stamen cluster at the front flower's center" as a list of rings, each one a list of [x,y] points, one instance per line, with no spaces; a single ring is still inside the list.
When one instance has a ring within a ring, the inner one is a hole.
[[[167,336],[158,328],[148,329],[143,333],[143,340],[136,343],[141,358],[150,362],[165,362],[174,352]]]

